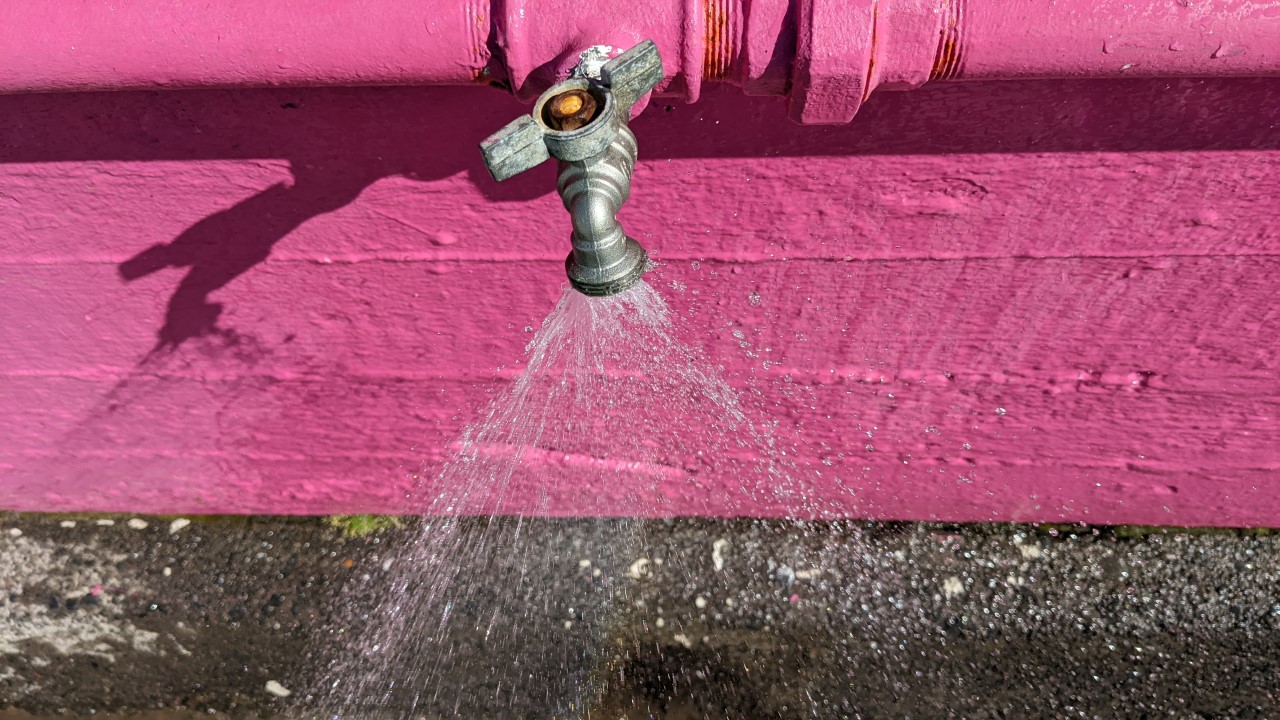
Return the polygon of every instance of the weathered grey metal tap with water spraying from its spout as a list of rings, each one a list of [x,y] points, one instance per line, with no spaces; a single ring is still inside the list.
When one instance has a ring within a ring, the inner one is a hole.
[[[564,260],[568,282],[584,295],[614,295],[649,266],[617,214],[631,193],[636,161],[636,138],[627,127],[631,106],[662,81],[662,58],[646,40],[605,63],[599,77],[585,65],[544,92],[530,115],[481,142],[480,152],[499,182],[559,160],[557,190],[573,223],[573,250]]]

